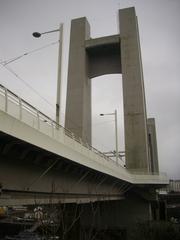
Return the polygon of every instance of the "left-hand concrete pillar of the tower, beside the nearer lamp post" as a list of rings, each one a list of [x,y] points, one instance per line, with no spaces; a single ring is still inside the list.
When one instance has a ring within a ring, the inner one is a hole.
[[[91,81],[85,40],[90,38],[86,18],[71,22],[65,128],[91,144]]]

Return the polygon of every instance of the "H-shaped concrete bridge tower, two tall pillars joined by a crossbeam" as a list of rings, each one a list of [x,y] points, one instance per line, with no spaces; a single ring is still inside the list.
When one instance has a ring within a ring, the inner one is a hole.
[[[120,35],[90,39],[86,18],[72,20],[65,127],[91,143],[90,78],[122,73],[126,167],[149,171],[147,117],[137,18],[122,9]]]

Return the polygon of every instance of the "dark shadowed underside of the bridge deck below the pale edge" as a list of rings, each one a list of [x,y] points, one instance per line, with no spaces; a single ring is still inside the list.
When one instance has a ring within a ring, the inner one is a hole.
[[[0,133],[1,205],[123,199],[132,185]]]

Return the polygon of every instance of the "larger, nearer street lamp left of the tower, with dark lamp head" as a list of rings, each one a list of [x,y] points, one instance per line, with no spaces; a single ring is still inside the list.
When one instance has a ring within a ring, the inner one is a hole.
[[[44,34],[59,32],[59,54],[58,54],[58,73],[57,73],[57,96],[56,96],[56,123],[60,124],[60,110],[61,110],[61,75],[62,75],[62,43],[63,43],[63,23],[58,29],[48,32],[33,32],[33,37],[39,38]]]

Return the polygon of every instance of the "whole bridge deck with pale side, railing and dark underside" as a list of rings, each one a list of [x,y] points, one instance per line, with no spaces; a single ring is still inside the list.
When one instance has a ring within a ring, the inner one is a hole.
[[[167,183],[128,171],[0,85],[0,205],[122,199]]]

